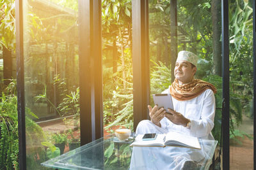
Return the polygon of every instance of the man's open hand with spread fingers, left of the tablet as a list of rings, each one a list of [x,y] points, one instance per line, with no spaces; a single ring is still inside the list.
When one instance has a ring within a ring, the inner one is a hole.
[[[151,119],[151,122],[161,127],[160,120],[162,120],[162,118],[165,117],[165,113],[166,113],[164,108],[158,109],[157,105],[155,105],[154,108],[152,108],[150,105],[148,105],[148,110],[149,110],[149,117]]]

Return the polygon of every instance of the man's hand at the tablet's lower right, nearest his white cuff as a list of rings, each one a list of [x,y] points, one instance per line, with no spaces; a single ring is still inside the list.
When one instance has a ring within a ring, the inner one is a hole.
[[[181,113],[176,112],[174,110],[168,109],[168,111],[172,114],[165,114],[165,117],[168,118],[171,122],[173,122],[173,124],[176,125],[183,125],[184,127],[186,127],[186,125],[189,122],[189,119],[184,117]]]

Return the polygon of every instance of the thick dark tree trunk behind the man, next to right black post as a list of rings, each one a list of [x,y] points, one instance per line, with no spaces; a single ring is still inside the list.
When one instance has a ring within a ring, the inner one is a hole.
[[[221,1],[212,0],[212,59],[214,64],[214,74],[221,76]]]

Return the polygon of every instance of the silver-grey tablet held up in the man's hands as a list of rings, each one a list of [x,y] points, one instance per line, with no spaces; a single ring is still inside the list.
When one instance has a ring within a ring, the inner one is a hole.
[[[153,94],[153,99],[158,108],[164,108],[167,113],[169,113],[168,108],[173,110],[171,94]]]

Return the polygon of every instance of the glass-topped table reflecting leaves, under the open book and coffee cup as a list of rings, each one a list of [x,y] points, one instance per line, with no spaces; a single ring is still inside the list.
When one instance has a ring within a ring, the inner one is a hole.
[[[42,166],[56,169],[173,169],[170,165],[179,164],[177,158],[190,157],[200,164],[198,169],[209,169],[218,143],[199,139],[200,150],[174,146],[130,147],[132,139],[118,141],[112,134],[47,160]],[[176,153],[181,155],[177,157]]]

